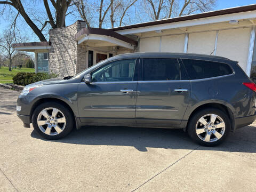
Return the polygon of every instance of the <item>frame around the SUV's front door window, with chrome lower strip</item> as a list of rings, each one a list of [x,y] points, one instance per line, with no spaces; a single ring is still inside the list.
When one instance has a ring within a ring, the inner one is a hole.
[[[121,60],[135,60],[135,66],[134,66],[134,71],[133,71],[133,77],[132,77],[132,81],[114,81],[114,82],[91,82],[91,84],[109,84],[109,83],[131,83],[131,82],[138,82],[138,78],[139,78],[139,58],[125,58],[125,59],[117,59],[117,60],[113,60],[113,61],[109,61],[99,67],[97,67],[96,69],[94,69],[93,71],[90,72],[90,75],[92,77],[92,74],[94,73],[94,71],[106,66],[106,65],[109,65],[110,63],[112,62],[116,62],[116,61],[121,61]],[[137,81],[133,81],[134,80],[134,75],[135,75],[135,70],[138,70],[137,72]]]

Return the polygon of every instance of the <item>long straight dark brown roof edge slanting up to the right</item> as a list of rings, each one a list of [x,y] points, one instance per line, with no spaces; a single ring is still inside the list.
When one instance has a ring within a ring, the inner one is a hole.
[[[194,20],[194,19],[202,19],[202,18],[215,17],[215,16],[220,16],[220,15],[226,15],[226,14],[255,11],[255,10],[256,10],[256,4],[253,4],[253,5],[233,7],[233,8],[229,8],[229,9],[222,9],[222,10],[217,10],[217,11],[210,11],[210,12],[204,12],[204,13],[199,13],[199,14],[187,15],[187,16],[177,17],[177,18],[143,22],[143,23],[138,23],[138,24],[134,24],[134,25],[127,25],[127,26],[122,26],[122,27],[111,28],[111,30],[118,31],[118,30],[133,29],[133,28],[139,28],[139,27],[148,27],[148,26],[161,25],[161,24],[166,24],[166,23],[188,21],[188,20]],[[255,15],[255,17],[256,17],[256,15]]]

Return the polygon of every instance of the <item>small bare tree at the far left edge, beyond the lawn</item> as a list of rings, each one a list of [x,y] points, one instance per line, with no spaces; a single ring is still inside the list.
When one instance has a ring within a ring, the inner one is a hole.
[[[26,38],[19,38],[19,42],[24,41]],[[12,61],[15,57],[19,55],[25,55],[13,49],[12,44],[18,43],[17,38],[14,37],[10,30],[5,30],[2,37],[0,37],[0,52],[4,55],[4,58],[9,60],[9,71],[12,71]]]

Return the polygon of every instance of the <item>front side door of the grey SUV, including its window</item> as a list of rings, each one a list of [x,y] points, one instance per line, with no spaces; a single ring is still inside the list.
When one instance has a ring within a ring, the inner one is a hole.
[[[91,72],[91,83],[82,82],[78,87],[81,122],[135,123],[138,62],[112,61]]]

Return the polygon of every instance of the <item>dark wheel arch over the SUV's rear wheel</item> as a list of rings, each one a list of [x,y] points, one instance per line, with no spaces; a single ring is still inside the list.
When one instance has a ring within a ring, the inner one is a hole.
[[[217,108],[221,111],[223,111],[224,113],[226,113],[230,119],[230,123],[231,123],[231,132],[234,132],[235,130],[235,124],[234,124],[234,114],[233,111],[226,105],[224,105],[223,103],[218,103],[218,102],[210,102],[210,103],[204,103],[202,105],[197,106],[193,111],[191,111],[189,118],[188,118],[188,123],[187,126],[189,124],[189,121],[191,119],[191,117],[193,117],[193,115],[195,113],[197,113],[197,111],[206,109],[206,108]],[[187,131],[187,126],[185,128],[185,131]]]

